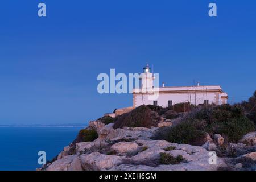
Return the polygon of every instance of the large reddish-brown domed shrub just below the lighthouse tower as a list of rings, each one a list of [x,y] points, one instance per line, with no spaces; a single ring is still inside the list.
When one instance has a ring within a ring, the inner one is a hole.
[[[127,127],[151,127],[156,126],[156,121],[152,117],[152,111],[145,105],[141,105],[129,113],[122,114],[115,121],[113,128]]]

